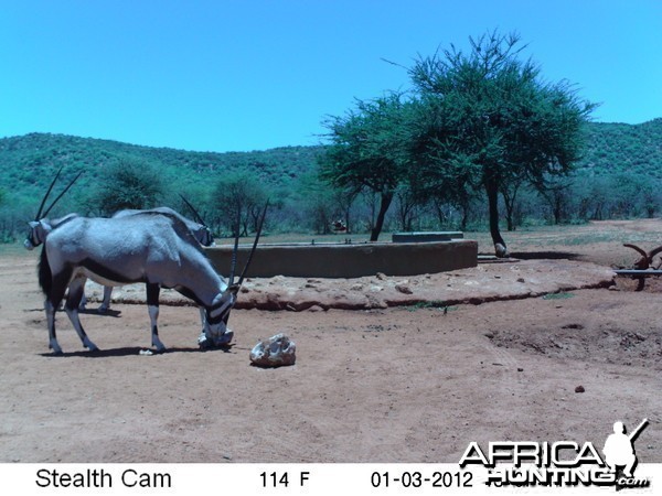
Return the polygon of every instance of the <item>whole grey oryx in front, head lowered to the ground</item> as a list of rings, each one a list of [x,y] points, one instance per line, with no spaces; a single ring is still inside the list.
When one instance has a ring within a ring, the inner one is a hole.
[[[62,353],[55,333],[55,309],[68,288],[65,311],[83,345],[97,349],[78,317],[87,278],[104,285],[146,283],[151,343],[159,352],[166,349],[157,325],[161,288],[172,288],[201,306],[201,346],[228,343],[232,331],[227,330],[227,319],[257,247],[265,214],[266,206],[253,250],[236,283],[237,240],[231,276],[225,280],[216,273],[186,225],[174,215],[143,212],[115,218],[74,217],[53,229],[44,242],[39,267],[40,284],[46,295],[49,346],[54,353]]]

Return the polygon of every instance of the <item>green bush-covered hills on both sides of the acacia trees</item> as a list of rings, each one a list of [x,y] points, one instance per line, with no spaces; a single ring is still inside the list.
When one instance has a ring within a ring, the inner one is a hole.
[[[590,122],[578,172],[632,172],[662,177],[662,118],[641,125]],[[286,147],[253,152],[191,152],[93,138],[32,133],[0,139],[0,184],[17,194],[43,191],[55,171],[85,170],[94,181],[114,161],[147,163],[186,191],[228,171],[245,169],[261,182],[287,188],[310,172],[322,147]]]

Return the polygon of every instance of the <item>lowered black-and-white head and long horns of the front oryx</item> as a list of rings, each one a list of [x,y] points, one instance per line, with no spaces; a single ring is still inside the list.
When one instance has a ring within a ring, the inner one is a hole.
[[[246,265],[244,266],[244,270],[242,271],[239,279],[235,282],[235,269],[237,265],[237,251],[239,246],[239,229],[237,225],[234,248],[232,251],[232,262],[229,278],[227,280],[227,287],[214,299],[212,306],[206,309],[203,334],[200,336],[199,339],[201,346],[224,345],[229,343],[233,337],[233,332],[227,328],[229,311],[233,309],[237,301],[237,294],[239,292],[239,289],[242,288],[242,283],[244,282],[244,277],[246,276],[246,271],[248,270],[250,261],[253,260],[253,255],[255,254],[257,242],[259,241],[259,236],[261,234],[263,225],[265,223],[265,215],[267,213],[268,206],[269,203],[267,202],[259,219],[257,234],[255,235],[255,240],[253,241],[253,248],[248,254],[248,259],[246,260]]]

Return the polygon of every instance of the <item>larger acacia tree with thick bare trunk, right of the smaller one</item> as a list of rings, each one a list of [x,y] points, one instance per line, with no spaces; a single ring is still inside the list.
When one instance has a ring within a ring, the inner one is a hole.
[[[469,42],[468,54],[451,45],[409,69],[427,108],[416,148],[445,176],[463,174],[484,190],[492,240],[504,256],[500,192],[522,177],[544,190],[547,177],[567,174],[595,105],[580,100],[567,82],[544,82],[533,62],[521,61],[525,46],[517,34],[494,31]]]

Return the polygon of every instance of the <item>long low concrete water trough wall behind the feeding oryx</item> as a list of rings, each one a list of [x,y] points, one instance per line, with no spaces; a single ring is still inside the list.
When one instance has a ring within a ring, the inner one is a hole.
[[[246,263],[250,245],[241,245],[237,272]],[[232,245],[205,248],[216,269],[227,276]],[[260,244],[246,277],[360,278],[417,276],[476,267],[478,242],[466,239],[426,242]],[[238,274],[237,274],[238,276]]]

